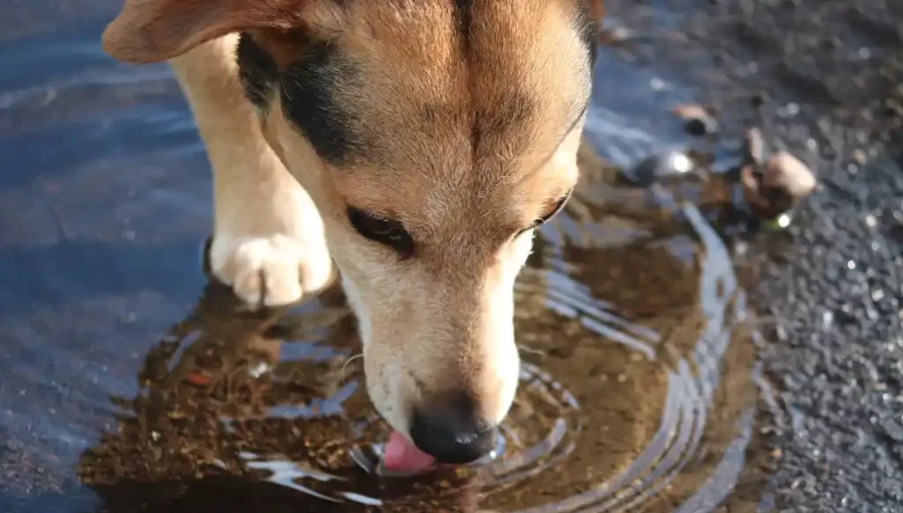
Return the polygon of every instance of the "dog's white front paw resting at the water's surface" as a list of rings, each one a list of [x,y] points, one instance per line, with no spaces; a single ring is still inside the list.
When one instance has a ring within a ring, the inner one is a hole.
[[[253,308],[301,301],[330,281],[332,266],[323,248],[305,246],[282,234],[213,238],[209,270]]]

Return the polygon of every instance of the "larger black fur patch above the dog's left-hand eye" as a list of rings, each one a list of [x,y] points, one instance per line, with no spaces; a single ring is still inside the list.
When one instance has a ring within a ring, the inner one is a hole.
[[[280,98],[285,117],[330,163],[347,161],[360,148],[353,129],[355,117],[335,94],[354,79],[354,70],[338,46],[323,41],[306,43],[302,59],[282,76]]]

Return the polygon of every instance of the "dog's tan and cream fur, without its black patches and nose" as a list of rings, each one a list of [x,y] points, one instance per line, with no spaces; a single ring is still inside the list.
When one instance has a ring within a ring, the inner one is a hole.
[[[513,284],[533,231],[517,234],[577,180],[590,76],[569,27],[579,1],[476,3],[471,16],[487,28],[474,32],[470,60],[451,0],[342,9],[327,0],[132,0],[105,48],[124,60],[172,58],[214,169],[211,263],[239,295],[280,304],[319,290],[330,275],[325,227],[358,316],[369,395],[405,433],[414,409],[460,390],[490,422],[507,414],[518,368]],[[287,66],[303,52],[292,35],[302,28],[359,66],[367,87],[334,94],[368,135],[366,158],[327,163],[278,96],[262,125],[243,97],[235,36],[226,34],[251,31]],[[478,116],[492,129],[475,147]],[[362,238],[349,206],[402,222],[414,257]]]

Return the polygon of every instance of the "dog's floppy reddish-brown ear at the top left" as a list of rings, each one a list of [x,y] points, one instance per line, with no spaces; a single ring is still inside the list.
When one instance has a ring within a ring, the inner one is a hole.
[[[119,61],[166,61],[228,33],[289,29],[310,0],[126,0],[103,34]]]

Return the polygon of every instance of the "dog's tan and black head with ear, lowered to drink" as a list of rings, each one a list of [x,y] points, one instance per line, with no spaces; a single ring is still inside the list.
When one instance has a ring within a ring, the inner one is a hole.
[[[518,380],[513,286],[577,182],[596,0],[127,0],[104,47],[227,33],[268,143],[312,195],[389,424],[489,448]]]

